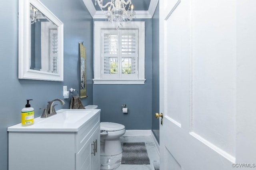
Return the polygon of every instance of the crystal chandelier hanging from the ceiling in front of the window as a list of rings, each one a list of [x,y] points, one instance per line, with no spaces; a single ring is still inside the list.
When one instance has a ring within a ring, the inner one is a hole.
[[[115,22],[116,29],[122,26],[121,22],[130,22],[135,18],[132,0],[110,0],[110,2],[107,2],[105,5],[103,1],[104,0],[95,0],[95,5],[96,2],[98,2],[100,9],[106,12],[106,20],[112,22],[112,24]],[[104,11],[102,8],[106,7],[108,7],[108,10]]]

